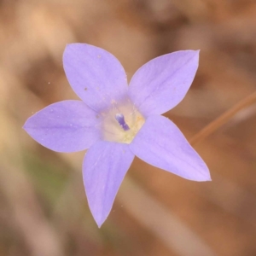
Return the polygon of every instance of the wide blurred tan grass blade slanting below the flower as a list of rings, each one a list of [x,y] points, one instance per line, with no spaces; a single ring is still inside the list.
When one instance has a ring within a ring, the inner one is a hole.
[[[123,189],[118,195],[125,210],[143,224],[154,236],[158,237],[166,247],[181,256],[214,256],[217,255],[206,242],[183,223],[159,201],[128,177],[125,177]],[[186,241],[186,246],[184,246]]]

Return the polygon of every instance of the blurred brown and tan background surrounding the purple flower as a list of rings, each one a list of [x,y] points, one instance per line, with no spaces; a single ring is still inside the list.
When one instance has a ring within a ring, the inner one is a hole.
[[[255,24],[253,0],[0,0],[0,255],[256,255],[256,104],[193,144],[211,183],[136,159],[100,230],[84,152],[55,153],[21,128],[50,103],[78,99],[66,44],[107,49],[128,79],[158,55],[201,49],[191,89],[165,114],[191,139],[256,91]]]

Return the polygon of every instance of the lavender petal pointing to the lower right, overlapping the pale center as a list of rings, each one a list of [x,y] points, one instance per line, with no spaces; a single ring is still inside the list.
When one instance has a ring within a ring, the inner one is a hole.
[[[152,166],[195,181],[211,180],[207,165],[199,154],[177,126],[163,116],[148,117],[130,148]]]

